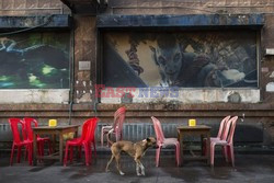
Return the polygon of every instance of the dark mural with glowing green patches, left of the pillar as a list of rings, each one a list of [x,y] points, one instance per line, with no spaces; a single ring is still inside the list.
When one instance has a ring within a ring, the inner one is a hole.
[[[0,37],[0,89],[69,88],[69,34]]]

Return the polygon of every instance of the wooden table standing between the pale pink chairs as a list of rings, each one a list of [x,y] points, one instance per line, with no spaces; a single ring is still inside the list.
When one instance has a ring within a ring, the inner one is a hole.
[[[210,129],[212,127],[205,125],[196,125],[196,126],[179,126],[178,130],[178,139],[180,141],[181,147],[181,165],[183,165],[183,138],[184,136],[201,136],[201,148],[203,150],[203,139],[206,137],[206,155],[195,157],[192,159],[201,159],[207,160],[207,164],[210,164]]]

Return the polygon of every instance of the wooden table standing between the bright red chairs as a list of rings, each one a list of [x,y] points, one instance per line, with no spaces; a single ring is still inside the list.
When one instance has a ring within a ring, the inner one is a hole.
[[[67,126],[55,126],[55,127],[49,127],[49,126],[38,126],[38,127],[33,127],[33,164],[37,164],[37,158],[38,159],[57,159],[59,162],[62,162],[62,147],[64,147],[64,134],[67,133],[75,133],[75,136],[77,137],[78,135],[78,127],[79,125],[67,125]],[[55,141],[56,141],[56,136],[59,137],[59,151],[54,152],[53,155],[49,156],[37,156],[37,135],[53,135],[53,147],[55,148]]]

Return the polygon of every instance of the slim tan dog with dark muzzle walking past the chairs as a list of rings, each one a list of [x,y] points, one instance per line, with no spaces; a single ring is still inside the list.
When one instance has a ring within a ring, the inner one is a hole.
[[[141,141],[138,142],[132,142],[132,141],[116,141],[113,142],[110,140],[109,136],[107,136],[107,140],[112,145],[111,150],[112,150],[112,157],[110,159],[110,161],[106,164],[105,171],[109,172],[109,165],[111,164],[111,162],[113,161],[113,159],[115,158],[116,160],[116,168],[119,172],[121,175],[124,175],[125,173],[122,172],[121,170],[121,163],[119,163],[119,159],[121,159],[121,152],[126,152],[128,153],[130,157],[134,158],[135,162],[136,162],[136,173],[137,175],[145,175],[145,167],[142,165],[142,163],[140,162],[141,157],[145,155],[146,150],[149,147],[156,146],[156,138],[155,137],[148,137],[147,139],[144,139]],[[139,169],[141,170],[141,173],[139,172]]]

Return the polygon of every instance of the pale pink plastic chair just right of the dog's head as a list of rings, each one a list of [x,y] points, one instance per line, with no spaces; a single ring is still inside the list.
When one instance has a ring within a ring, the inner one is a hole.
[[[159,167],[159,159],[160,159],[160,152],[161,148],[173,145],[175,146],[175,158],[176,158],[176,165],[180,165],[181,160],[180,160],[180,142],[178,141],[176,138],[164,138],[161,123],[153,116],[151,116],[151,119],[153,122],[153,127],[157,136],[157,145],[158,149],[156,150],[156,167]]]

